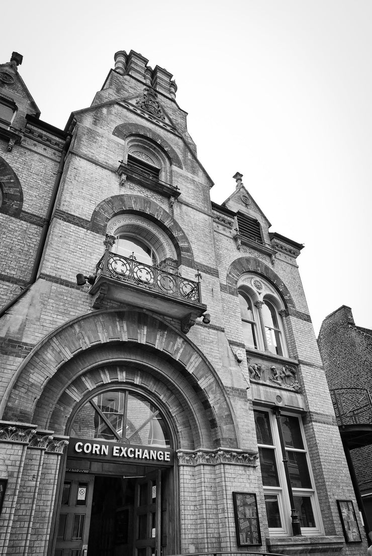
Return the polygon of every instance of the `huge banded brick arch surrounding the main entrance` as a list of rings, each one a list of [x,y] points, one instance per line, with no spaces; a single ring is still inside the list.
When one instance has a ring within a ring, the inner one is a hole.
[[[52,332],[18,369],[4,395],[2,418],[46,429],[61,418],[63,429],[83,388],[76,381],[85,375],[88,390],[123,383],[123,367],[133,377],[129,382],[152,388],[170,414],[184,408],[175,416],[183,423],[180,444],[239,447],[236,418],[216,371],[182,332],[144,311],[95,311]]]

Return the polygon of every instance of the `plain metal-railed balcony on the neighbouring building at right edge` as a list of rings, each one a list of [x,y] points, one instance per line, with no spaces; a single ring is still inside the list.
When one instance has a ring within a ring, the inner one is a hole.
[[[337,425],[349,449],[372,444],[372,398],[366,388],[330,390]]]

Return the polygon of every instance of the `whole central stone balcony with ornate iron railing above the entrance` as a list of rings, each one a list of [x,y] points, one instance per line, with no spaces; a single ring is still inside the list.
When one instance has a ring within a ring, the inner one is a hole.
[[[110,237],[110,236],[108,236]],[[188,332],[207,306],[200,295],[198,281],[184,278],[179,272],[169,272],[160,265],[146,265],[134,255],[125,257],[110,251],[110,241],[96,267],[96,279],[89,293],[92,307],[99,309],[102,301],[117,301],[139,306],[181,321],[183,332]]]

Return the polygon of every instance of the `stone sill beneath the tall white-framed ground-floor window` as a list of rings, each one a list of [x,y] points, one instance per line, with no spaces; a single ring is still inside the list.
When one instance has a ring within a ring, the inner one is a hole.
[[[269,552],[290,554],[324,553],[335,554],[345,547],[344,537],[330,535],[329,537],[267,537],[266,544]]]

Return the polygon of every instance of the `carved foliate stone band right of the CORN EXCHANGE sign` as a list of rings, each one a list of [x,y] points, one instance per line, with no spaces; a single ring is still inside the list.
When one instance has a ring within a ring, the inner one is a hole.
[[[258,454],[248,454],[240,451],[218,450],[214,452],[199,450],[185,453],[179,451],[178,463],[180,465],[218,465],[221,463],[231,465],[246,465],[257,467]]]

